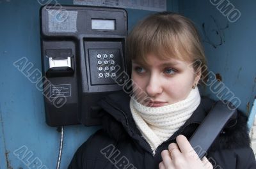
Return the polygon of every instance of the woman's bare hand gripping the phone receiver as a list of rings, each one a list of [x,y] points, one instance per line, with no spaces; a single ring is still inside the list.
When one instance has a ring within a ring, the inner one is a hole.
[[[170,143],[169,150],[161,152],[163,161],[159,163],[159,169],[212,169],[207,158],[202,161],[198,158],[185,136],[177,136],[176,141]]]

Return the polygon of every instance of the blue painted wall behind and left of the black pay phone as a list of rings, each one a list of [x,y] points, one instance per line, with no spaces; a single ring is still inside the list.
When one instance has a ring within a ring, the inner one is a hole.
[[[52,1],[56,2],[73,3]],[[177,10],[177,1],[168,1],[168,8]],[[45,123],[42,92],[13,66],[13,62],[26,57],[33,70],[41,70],[39,9],[35,0],[0,0],[0,169],[33,168],[28,165],[33,160],[42,163],[42,169],[56,167],[60,133]],[[127,11],[129,29],[153,13]],[[99,128],[65,127],[61,168],[67,168],[77,147]],[[17,149],[20,154],[15,155]]]

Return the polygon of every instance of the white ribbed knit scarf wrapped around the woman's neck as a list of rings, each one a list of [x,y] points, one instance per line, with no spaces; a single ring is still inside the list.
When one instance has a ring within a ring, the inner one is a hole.
[[[131,98],[130,108],[136,126],[154,152],[191,117],[199,104],[200,93],[196,87],[186,99],[172,105],[146,107]]]

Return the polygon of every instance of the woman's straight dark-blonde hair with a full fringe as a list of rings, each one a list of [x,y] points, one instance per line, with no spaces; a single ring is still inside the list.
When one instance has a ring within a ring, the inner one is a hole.
[[[147,54],[159,59],[180,59],[193,62],[195,71],[207,68],[204,49],[195,25],[188,18],[170,12],[156,13],[141,20],[127,36],[127,58],[147,62]],[[128,68],[129,68],[128,67]],[[131,71],[131,70],[129,70]],[[202,76],[207,70],[202,70]]]

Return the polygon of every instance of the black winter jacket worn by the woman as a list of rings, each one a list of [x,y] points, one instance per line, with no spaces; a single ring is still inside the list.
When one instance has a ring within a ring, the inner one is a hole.
[[[99,105],[104,110],[103,128],[79,147],[69,169],[158,168],[162,161],[161,151],[168,149],[177,135],[181,134],[189,139],[214,105],[211,99],[202,98],[188,121],[166,142],[161,143],[153,156],[150,146],[132,119],[129,100],[127,94],[117,92],[100,101]],[[246,117],[242,113],[228,122],[207,152],[207,158],[213,168],[256,169]]]

